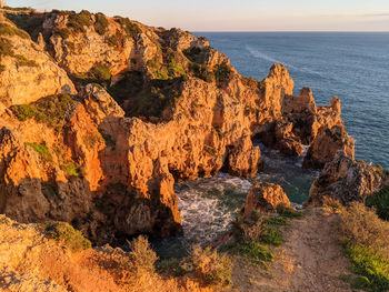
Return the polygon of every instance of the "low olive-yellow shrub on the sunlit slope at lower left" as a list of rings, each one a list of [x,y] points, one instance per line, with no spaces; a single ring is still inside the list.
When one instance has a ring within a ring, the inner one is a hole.
[[[72,252],[78,252],[91,248],[90,241],[82,235],[81,231],[73,229],[69,223],[48,223],[46,224],[44,230],[50,239],[62,243]]]

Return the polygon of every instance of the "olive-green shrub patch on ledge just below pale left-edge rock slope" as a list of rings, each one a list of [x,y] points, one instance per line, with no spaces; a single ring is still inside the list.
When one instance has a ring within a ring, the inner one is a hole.
[[[40,99],[30,104],[12,105],[11,110],[20,121],[34,119],[37,122],[60,130],[63,125],[67,112],[74,104],[68,94],[58,94]]]

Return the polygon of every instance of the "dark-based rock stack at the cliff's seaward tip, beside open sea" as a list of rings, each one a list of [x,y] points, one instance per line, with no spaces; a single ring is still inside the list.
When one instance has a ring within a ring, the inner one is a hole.
[[[343,125],[335,125],[320,132],[310,145],[302,165],[309,169],[322,169],[327,162],[335,159],[338,151],[353,159],[353,139],[349,137]]]

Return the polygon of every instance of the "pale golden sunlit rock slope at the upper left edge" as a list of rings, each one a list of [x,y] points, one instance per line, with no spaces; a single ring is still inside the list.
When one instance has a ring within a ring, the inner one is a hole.
[[[23,104],[58,93],[77,91],[50,56],[30,36],[0,14],[0,101],[6,105]]]

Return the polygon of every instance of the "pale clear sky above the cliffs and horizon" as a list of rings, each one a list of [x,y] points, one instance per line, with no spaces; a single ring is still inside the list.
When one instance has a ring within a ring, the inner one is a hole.
[[[389,0],[8,0],[8,4],[87,9],[190,31],[389,31]]]

